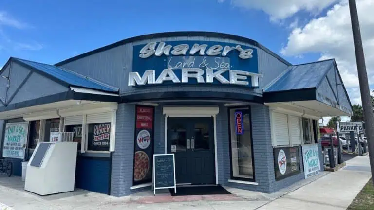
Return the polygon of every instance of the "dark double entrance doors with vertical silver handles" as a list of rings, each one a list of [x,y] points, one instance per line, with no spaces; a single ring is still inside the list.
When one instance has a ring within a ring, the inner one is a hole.
[[[168,118],[177,184],[215,184],[213,118]]]

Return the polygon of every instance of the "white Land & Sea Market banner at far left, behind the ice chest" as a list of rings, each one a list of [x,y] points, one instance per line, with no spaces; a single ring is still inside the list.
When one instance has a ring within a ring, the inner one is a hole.
[[[25,157],[28,123],[7,123],[5,126],[5,138],[3,157],[23,159]]]

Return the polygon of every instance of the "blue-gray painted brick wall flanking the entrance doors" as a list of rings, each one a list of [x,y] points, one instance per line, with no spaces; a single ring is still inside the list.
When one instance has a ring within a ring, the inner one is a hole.
[[[154,124],[154,153],[164,153],[165,117],[162,105],[155,107]],[[217,120],[217,161],[218,183],[224,186],[245,190],[271,193],[287,187],[304,178],[301,147],[299,147],[300,169],[294,175],[280,181],[275,180],[273,147],[271,145],[269,109],[264,105],[251,105],[253,157],[255,182],[258,185],[248,185],[228,182],[231,178],[229,130],[227,107],[219,105]],[[119,104],[117,110],[116,145],[112,159],[112,188],[114,196],[125,196],[132,193],[150,190],[150,187],[130,190],[132,186],[135,105]]]

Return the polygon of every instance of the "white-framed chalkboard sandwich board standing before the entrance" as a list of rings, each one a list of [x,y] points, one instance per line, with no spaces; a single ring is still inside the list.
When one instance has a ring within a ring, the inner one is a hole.
[[[153,155],[153,195],[157,189],[167,188],[177,193],[174,154]]]

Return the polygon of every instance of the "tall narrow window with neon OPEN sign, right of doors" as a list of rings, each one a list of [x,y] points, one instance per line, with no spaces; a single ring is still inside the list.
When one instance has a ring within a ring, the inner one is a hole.
[[[232,178],[254,179],[249,108],[230,109]]]

